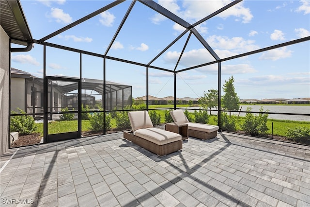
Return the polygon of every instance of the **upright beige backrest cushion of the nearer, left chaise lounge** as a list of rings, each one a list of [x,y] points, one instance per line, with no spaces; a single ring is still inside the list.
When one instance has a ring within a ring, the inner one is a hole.
[[[128,117],[132,131],[153,127],[153,123],[147,111],[130,111],[128,112]]]

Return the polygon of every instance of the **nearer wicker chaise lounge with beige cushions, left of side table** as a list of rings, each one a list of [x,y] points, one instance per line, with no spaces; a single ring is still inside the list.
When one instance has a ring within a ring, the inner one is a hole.
[[[182,149],[181,135],[155,128],[147,111],[128,112],[132,132],[124,131],[124,138],[155,153],[167,155]]]

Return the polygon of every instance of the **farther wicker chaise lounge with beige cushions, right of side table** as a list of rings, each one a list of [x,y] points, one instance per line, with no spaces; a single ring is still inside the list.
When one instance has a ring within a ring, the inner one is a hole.
[[[200,139],[210,139],[217,136],[218,126],[189,122],[183,110],[178,109],[170,111],[170,115],[174,122],[188,124],[188,136]]]

